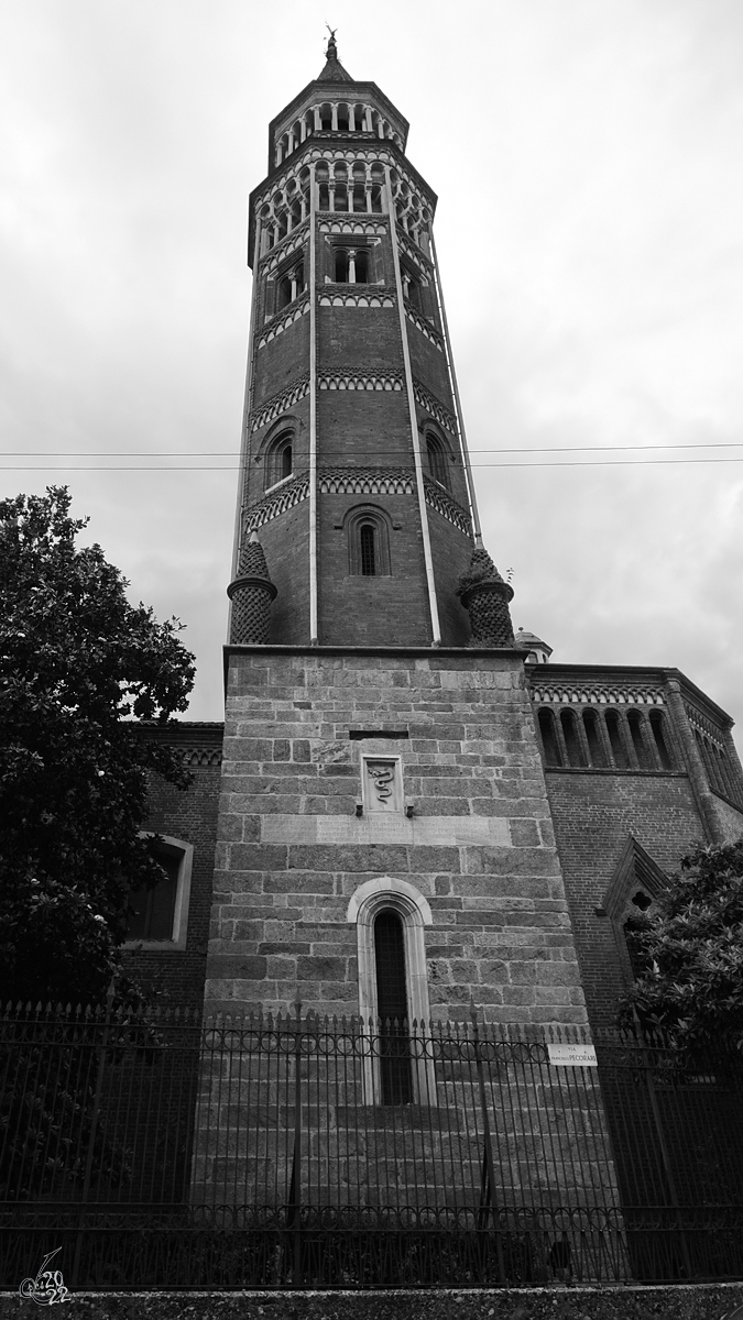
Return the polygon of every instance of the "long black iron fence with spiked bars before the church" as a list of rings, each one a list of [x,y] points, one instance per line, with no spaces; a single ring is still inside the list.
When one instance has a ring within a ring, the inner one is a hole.
[[[743,1276],[738,1077],[570,1041],[7,1012],[0,1284],[59,1246],[78,1288]]]

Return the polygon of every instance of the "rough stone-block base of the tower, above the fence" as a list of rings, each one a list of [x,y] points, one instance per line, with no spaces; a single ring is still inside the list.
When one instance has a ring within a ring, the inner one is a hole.
[[[358,1012],[349,902],[391,879],[430,908],[432,1018],[586,1022],[518,655],[230,647],[227,680],[206,1012]],[[405,812],[357,816],[369,754]]]

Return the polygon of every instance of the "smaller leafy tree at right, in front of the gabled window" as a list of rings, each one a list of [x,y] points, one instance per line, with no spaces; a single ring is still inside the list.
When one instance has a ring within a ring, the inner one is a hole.
[[[695,1055],[743,1048],[743,838],[698,846],[668,891],[639,915],[631,935],[640,969],[620,1024]]]

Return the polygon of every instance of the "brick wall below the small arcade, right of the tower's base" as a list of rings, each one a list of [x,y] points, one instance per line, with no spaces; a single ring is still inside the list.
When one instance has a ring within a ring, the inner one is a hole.
[[[666,874],[703,824],[685,774],[545,771],[591,1026],[611,1027],[624,990],[613,924],[598,916],[629,834]]]

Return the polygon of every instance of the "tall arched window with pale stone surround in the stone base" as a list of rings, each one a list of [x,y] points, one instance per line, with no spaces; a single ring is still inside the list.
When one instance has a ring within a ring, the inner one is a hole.
[[[432,925],[428,900],[407,880],[383,875],[360,884],[346,921],[356,924],[358,1012],[362,1031],[372,1038],[362,1056],[365,1102],[435,1105],[431,1051],[411,1048],[431,1014],[424,939],[426,927]],[[381,1030],[382,1023],[390,1030]],[[403,1023],[407,1031],[399,1030]]]

